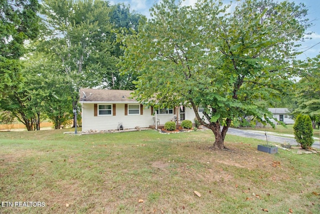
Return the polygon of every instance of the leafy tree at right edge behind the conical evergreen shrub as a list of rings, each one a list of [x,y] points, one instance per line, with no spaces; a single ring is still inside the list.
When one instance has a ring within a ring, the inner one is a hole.
[[[320,122],[320,55],[300,64],[300,77],[295,91],[294,114],[309,115],[312,127]]]

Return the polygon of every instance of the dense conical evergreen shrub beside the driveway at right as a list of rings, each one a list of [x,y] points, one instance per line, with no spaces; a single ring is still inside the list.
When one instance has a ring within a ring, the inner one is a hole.
[[[293,125],[294,138],[301,148],[309,148],[313,143],[312,122],[308,115],[298,115]]]

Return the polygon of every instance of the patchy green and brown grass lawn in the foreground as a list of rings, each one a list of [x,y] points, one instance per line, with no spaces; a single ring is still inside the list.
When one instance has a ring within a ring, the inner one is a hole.
[[[63,134],[0,132],[0,200],[44,207],[0,213],[318,213],[319,154],[258,152],[211,131]],[[201,197],[193,192],[198,191]],[[138,200],[143,199],[139,203]],[[68,205],[66,205],[68,204]]]

